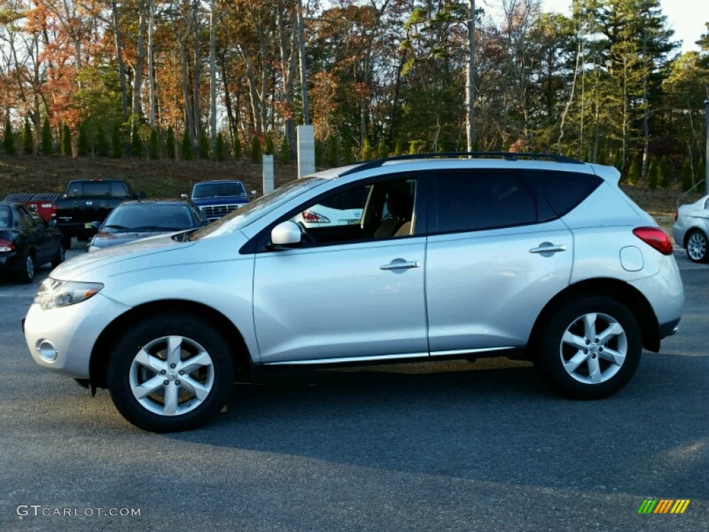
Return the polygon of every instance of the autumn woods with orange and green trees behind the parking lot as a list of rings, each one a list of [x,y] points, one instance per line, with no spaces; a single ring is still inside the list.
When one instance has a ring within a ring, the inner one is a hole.
[[[681,54],[659,0],[300,3],[0,0],[4,153],[288,162],[308,120],[319,165],[465,150],[471,65],[476,150],[703,177],[709,22]]]

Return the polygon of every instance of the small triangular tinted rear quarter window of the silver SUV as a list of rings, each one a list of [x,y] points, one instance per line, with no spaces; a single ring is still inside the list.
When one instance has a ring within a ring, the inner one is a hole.
[[[528,175],[558,216],[574,209],[603,182],[597,175],[574,172],[529,172]]]

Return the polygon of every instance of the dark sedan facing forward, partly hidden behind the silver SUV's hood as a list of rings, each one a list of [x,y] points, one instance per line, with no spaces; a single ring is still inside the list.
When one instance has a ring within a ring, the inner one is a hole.
[[[103,224],[94,222],[99,233],[91,239],[86,251],[194,229],[207,223],[206,216],[189,199],[123,201],[108,214]]]

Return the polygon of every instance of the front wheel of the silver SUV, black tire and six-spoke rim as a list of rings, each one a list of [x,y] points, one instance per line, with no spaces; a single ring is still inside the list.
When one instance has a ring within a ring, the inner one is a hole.
[[[180,340],[179,344],[172,340],[174,347],[180,347],[174,366],[167,360],[169,337]],[[200,349],[206,358],[196,356]],[[204,363],[195,365],[198,358]],[[180,366],[187,367],[188,360],[199,369],[180,374]],[[164,369],[159,369],[162,365]],[[234,368],[227,343],[207,321],[189,314],[154,316],[122,335],[108,361],[107,382],[116,408],[133,425],[153,432],[185,431],[219,413],[233,390]],[[203,397],[193,393],[194,387],[189,389],[189,383],[195,382],[201,384]],[[133,389],[154,392],[139,401]],[[174,401],[169,401],[169,394]],[[169,411],[171,404],[174,414]]]

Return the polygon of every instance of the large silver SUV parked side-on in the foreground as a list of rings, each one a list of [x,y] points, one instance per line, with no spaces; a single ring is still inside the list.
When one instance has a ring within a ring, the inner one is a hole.
[[[150,431],[194,428],[238,375],[289,365],[507,356],[568,397],[607,397],[684,300],[668,235],[619,177],[510,153],[319,172],[199,230],[65,262],[27,345]]]

